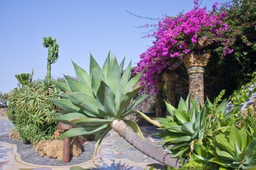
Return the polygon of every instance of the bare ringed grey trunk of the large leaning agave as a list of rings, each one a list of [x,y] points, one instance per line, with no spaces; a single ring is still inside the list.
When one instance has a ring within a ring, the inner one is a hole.
[[[171,167],[179,167],[179,159],[172,158],[170,153],[158,148],[152,142],[147,140],[143,140],[139,137],[133,130],[123,122],[123,120],[114,120],[113,129],[124,138],[127,142],[133,145],[137,150],[141,151],[141,153],[156,159],[160,163],[164,163],[164,165],[169,165]]]

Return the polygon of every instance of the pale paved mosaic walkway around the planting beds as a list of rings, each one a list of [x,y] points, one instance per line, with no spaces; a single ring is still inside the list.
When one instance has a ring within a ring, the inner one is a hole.
[[[13,125],[6,117],[0,116],[0,135],[7,134],[9,128]],[[159,142],[158,138],[150,136],[156,132],[152,126],[145,126],[141,128],[146,140],[154,142],[156,145]],[[110,136],[104,138],[101,144],[101,150],[98,153],[96,161],[88,161],[86,163],[79,164],[77,166],[83,168],[96,168],[98,170],[112,170],[112,169],[131,169],[131,170],[143,170],[149,169],[151,165],[159,169],[164,167],[143,155],[136,148],[131,146],[123,138],[121,138],[115,131],[110,131]],[[42,166],[26,163],[20,159],[20,154],[17,153],[17,147],[15,144],[9,144],[6,142],[0,142],[0,170],[18,170],[18,169],[34,169],[34,170],[69,170],[72,166]]]

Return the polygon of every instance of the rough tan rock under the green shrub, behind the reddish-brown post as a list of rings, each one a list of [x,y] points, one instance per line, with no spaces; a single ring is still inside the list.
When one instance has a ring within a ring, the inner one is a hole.
[[[70,155],[79,157],[82,154],[82,141],[79,138],[71,140]],[[63,140],[41,140],[33,146],[40,157],[63,159]]]

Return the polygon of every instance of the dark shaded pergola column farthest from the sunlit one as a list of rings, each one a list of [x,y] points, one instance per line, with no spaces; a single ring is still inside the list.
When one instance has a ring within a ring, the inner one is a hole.
[[[155,90],[156,90],[156,118],[162,118],[162,90],[164,89],[164,81],[162,81],[162,76],[158,75],[155,79]]]

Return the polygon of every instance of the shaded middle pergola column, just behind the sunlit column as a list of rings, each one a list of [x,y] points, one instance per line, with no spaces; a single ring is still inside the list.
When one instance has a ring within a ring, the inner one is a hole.
[[[164,73],[162,78],[166,83],[166,99],[175,107],[176,104],[176,81],[179,75],[176,73]]]

